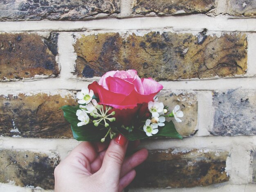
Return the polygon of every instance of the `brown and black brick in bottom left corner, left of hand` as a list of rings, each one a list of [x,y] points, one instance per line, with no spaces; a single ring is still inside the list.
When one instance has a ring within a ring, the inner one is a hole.
[[[0,149],[0,182],[54,189],[56,154]]]

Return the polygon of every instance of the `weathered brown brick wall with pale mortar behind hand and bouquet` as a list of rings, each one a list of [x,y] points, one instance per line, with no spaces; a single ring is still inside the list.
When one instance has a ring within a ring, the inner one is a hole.
[[[0,191],[51,191],[79,143],[59,107],[126,69],[185,115],[131,191],[256,191],[255,0],[0,1]]]

